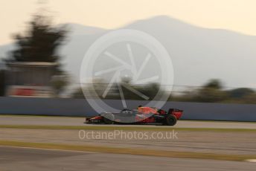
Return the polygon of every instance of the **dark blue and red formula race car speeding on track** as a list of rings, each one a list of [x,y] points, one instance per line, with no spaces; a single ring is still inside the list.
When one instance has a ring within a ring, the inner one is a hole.
[[[118,113],[103,112],[96,117],[86,118],[85,123],[105,124],[155,124],[174,126],[182,117],[182,110],[169,109],[168,112],[153,107],[141,107],[130,110],[123,109]]]

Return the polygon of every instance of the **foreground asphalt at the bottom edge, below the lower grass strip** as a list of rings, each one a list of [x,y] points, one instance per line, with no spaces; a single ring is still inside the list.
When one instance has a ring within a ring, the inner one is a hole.
[[[0,146],[1,171],[42,170],[255,170],[243,161],[214,161],[189,158],[161,158],[97,152],[72,152]]]

